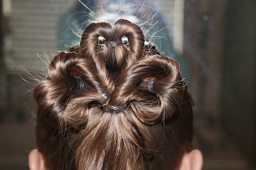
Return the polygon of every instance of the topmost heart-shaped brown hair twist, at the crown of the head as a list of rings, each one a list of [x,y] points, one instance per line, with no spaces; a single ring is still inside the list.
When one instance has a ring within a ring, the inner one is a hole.
[[[129,50],[122,43],[124,36],[128,38]],[[113,26],[106,22],[92,23],[82,34],[80,46],[82,55],[93,58],[102,85],[111,93],[120,69],[142,57],[144,35],[137,25],[124,19]]]

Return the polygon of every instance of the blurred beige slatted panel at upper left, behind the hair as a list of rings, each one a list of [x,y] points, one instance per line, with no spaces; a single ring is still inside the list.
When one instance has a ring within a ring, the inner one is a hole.
[[[10,29],[5,38],[6,68],[41,70],[43,62],[38,60],[37,53],[52,57],[50,53],[58,50],[58,22],[62,14],[72,7],[74,0],[8,2],[11,11],[6,16]]]

